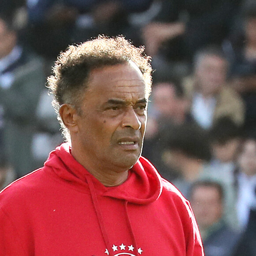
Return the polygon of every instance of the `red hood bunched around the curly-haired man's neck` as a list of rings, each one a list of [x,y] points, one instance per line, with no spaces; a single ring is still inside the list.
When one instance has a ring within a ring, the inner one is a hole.
[[[126,200],[129,203],[148,204],[158,199],[162,192],[162,180],[154,166],[140,157],[129,170],[128,179],[121,185],[105,187],[71,154],[71,147],[63,143],[52,151],[45,162],[45,171],[54,172],[58,177],[82,192],[90,193],[88,180],[93,183],[95,193]]]

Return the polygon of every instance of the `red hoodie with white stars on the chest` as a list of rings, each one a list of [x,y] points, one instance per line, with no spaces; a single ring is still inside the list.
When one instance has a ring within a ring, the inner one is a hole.
[[[190,205],[145,158],[105,187],[67,143],[0,193],[1,256],[202,256]]]

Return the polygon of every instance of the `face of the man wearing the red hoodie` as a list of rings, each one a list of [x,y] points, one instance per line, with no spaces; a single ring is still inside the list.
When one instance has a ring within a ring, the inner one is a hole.
[[[145,81],[135,64],[90,72],[75,132],[90,166],[130,169],[141,154],[146,122]]]

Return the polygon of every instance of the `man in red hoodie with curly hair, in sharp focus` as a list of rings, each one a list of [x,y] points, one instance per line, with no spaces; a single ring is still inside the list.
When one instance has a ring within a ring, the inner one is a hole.
[[[1,192],[4,255],[203,255],[188,201],[140,157],[149,60],[122,37],[60,54],[48,84],[68,143]]]

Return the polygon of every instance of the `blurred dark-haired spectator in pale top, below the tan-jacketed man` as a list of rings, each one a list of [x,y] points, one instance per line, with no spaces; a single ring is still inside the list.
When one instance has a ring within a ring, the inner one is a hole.
[[[209,138],[212,159],[203,177],[222,184],[226,194],[224,202],[226,221],[233,228],[239,229],[234,172],[237,168],[237,153],[242,138],[241,129],[229,117],[222,117],[213,124]]]

